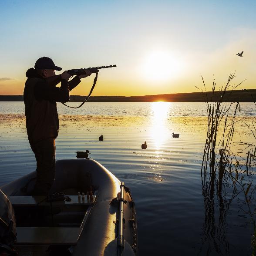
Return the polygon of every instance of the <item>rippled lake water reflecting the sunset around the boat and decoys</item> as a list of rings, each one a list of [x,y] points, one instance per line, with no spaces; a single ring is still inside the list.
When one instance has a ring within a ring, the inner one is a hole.
[[[77,110],[62,104],[57,108],[57,160],[75,158],[76,151],[88,149],[91,158],[125,182],[135,200],[140,256],[251,254],[254,231],[248,205],[255,210],[255,183],[249,203],[239,186],[234,192],[228,181],[222,188],[223,202],[216,192],[210,202],[205,196],[204,103],[87,102]],[[234,141],[255,144],[250,130],[255,110],[253,103],[241,103]],[[24,111],[23,102],[0,102],[0,185],[36,167]],[[180,137],[172,138],[172,132]],[[98,140],[101,134],[104,141]],[[146,150],[141,149],[144,141]],[[235,153],[244,148],[239,144],[232,148]],[[239,162],[244,164],[246,154],[242,156]],[[253,180],[253,175],[246,179]]]

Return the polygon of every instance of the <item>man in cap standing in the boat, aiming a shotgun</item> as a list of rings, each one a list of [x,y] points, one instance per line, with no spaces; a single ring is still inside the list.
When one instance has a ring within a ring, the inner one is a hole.
[[[24,88],[27,136],[37,161],[37,179],[33,195],[47,195],[55,178],[55,139],[59,131],[57,113],[58,102],[69,101],[69,91],[74,89],[81,78],[91,75],[77,75],[71,81],[67,71],[55,76],[55,70],[61,71],[49,57],[41,57],[35,68],[26,72]],[[56,87],[61,82],[61,87]]]

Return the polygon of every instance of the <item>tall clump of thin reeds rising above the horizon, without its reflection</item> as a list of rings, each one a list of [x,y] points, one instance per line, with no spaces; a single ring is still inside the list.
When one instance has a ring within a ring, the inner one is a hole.
[[[239,101],[229,102],[229,98],[232,96],[233,90],[242,84],[240,83],[232,87],[231,81],[234,79],[234,77],[234,73],[230,74],[227,83],[223,85],[219,91],[216,91],[216,82],[213,81],[212,92],[210,94],[206,91],[205,82],[202,77],[205,91],[201,90],[201,93],[205,99],[207,108],[208,129],[203,153],[201,175],[204,177],[204,182],[207,183],[207,173],[209,171],[209,180],[212,184],[216,178],[216,171],[219,169],[219,191],[222,184],[223,174],[230,158],[230,146],[234,134],[236,112],[238,110],[240,111]],[[226,94],[228,90],[231,91],[230,94]],[[218,96],[218,101],[214,102],[212,98],[216,98],[216,94]],[[232,108],[234,105],[235,109]],[[233,111],[232,115],[230,115],[231,111]],[[220,126],[223,124],[223,122],[224,128],[223,131],[220,132]],[[217,139],[219,139],[219,143]],[[219,154],[217,152],[219,152]]]

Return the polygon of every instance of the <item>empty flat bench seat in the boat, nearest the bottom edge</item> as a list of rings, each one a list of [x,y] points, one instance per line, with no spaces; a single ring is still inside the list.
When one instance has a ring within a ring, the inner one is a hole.
[[[16,245],[76,245],[81,227],[17,227]]]

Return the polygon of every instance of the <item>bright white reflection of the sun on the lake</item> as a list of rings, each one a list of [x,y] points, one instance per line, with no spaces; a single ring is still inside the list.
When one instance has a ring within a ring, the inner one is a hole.
[[[170,102],[152,102],[152,126],[150,129],[150,137],[154,141],[157,150],[163,145],[165,137],[168,133],[167,118],[170,109]]]

